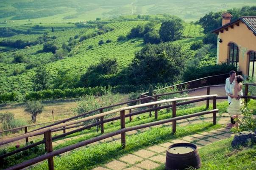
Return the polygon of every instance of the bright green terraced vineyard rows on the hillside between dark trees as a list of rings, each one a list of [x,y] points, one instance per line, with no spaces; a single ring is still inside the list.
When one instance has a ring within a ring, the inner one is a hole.
[[[69,68],[72,73],[81,75],[86,72],[87,67],[97,64],[100,59],[104,58],[116,58],[119,64],[119,70],[122,70],[134,58],[134,52],[141,49],[145,44],[142,38],[117,42],[118,36],[126,35],[132,27],[146,23],[147,21],[123,21],[106,24],[109,27],[113,27],[114,30],[78,43],[72,50],[72,57],[48,63],[46,65],[47,70],[50,70],[50,73],[54,76],[58,69]],[[64,31],[49,32],[48,35],[56,36],[55,42],[61,46],[61,43],[67,43],[70,37],[74,37],[75,35],[81,36],[86,34],[87,31],[90,30],[87,28],[70,28]],[[191,51],[190,46],[194,40],[201,39],[203,36],[202,28],[199,25],[185,24],[183,35],[189,39],[178,40],[173,43],[181,44],[184,51],[194,54],[195,51]],[[25,38],[36,38],[38,35],[19,35],[12,38],[18,39],[22,38],[22,36]],[[105,43],[98,45],[100,40],[103,40]],[[106,43],[106,40],[111,40],[111,43]],[[89,46],[92,46],[92,49],[89,49]],[[35,54],[39,50],[42,50],[42,44],[31,46],[29,49],[20,49],[19,52],[25,54],[30,60],[38,60],[40,62],[47,62],[53,56],[52,53]],[[12,61],[12,52],[5,52],[3,55],[8,57],[8,62]],[[24,69],[25,65],[24,63],[0,63],[1,75],[3,75],[0,78],[0,83],[3,85],[2,89],[4,91],[11,92],[18,89],[20,92],[25,92],[32,89],[31,76],[34,73],[33,69],[25,70],[24,73],[16,76],[13,75],[15,69]]]

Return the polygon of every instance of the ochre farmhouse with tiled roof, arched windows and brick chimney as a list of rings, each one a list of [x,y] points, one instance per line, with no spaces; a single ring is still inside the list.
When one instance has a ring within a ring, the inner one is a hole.
[[[212,32],[218,35],[217,63],[237,66],[245,77],[256,80],[256,16],[242,16],[230,22],[230,13],[222,14],[222,27]]]

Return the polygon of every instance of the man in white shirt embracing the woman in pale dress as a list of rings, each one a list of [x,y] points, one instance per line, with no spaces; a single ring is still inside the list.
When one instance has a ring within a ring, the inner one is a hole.
[[[230,71],[229,72],[229,78],[226,79],[226,82],[225,82],[225,91],[226,91],[226,94],[232,94],[232,89],[234,88],[235,86],[235,77],[237,76],[237,73],[235,71]],[[241,92],[241,94],[243,95],[243,93]],[[236,99],[239,100],[241,98],[241,96],[238,96]],[[230,105],[231,103],[231,97],[228,96],[228,104]],[[230,117],[231,119],[231,123],[228,124],[228,126],[234,126],[236,124],[236,122],[234,121],[234,118]]]

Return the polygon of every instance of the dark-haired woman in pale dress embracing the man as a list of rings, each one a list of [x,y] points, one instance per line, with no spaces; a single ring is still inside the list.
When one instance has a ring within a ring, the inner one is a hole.
[[[234,86],[234,89],[232,89],[232,94],[228,93],[228,95],[232,98],[231,103],[228,106],[228,114],[230,114],[230,116],[233,119],[237,118],[241,114],[241,108],[243,103],[241,99],[237,100],[236,98],[238,97],[238,95],[241,96],[241,93],[242,93],[241,82],[244,81],[244,78],[239,75],[235,77],[234,81],[235,81],[235,86]],[[237,121],[235,122],[235,126],[238,127]]]

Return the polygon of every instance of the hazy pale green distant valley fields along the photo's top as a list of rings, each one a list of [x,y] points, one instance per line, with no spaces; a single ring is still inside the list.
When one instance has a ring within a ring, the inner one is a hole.
[[[8,24],[80,22],[133,14],[169,13],[195,21],[210,11],[256,5],[255,0],[1,0],[0,27]]]

